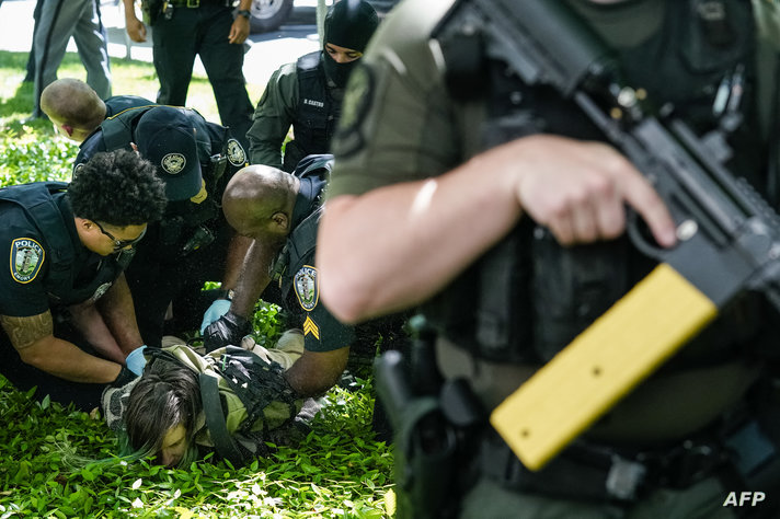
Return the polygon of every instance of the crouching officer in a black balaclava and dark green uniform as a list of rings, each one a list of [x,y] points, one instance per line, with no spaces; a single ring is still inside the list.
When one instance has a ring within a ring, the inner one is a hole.
[[[367,1],[333,4],[325,15],[323,49],[282,66],[268,80],[246,135],[251,163],[291,172],[303,157],[330,152],[349,71],[378,24]],[[283,159],[290,126],[295,138]]]

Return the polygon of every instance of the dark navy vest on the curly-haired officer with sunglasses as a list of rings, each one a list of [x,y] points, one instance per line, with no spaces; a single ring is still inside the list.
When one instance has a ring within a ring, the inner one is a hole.
[[[129,262],[126,253],[103,258],[93,277],[85,284],[74,286],[79,274],[76,250],[68,224],[53,195],[65,193],[64,182],[36,182],[0,189],[0,201],[13,203],[33,221],[43,237],[48,256],[48,272],[43,285],[55,303],[74,304],[90,298],[99,299],[111,287]]]

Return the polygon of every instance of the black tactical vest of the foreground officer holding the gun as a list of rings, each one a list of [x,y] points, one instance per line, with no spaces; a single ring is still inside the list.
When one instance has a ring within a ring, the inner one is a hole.
[[[624,77],[629,84],[644,88],[650,100],[669,102],[698,132],[727,128],[724,132],[735,154],[725,165],[765,191],[767,153],[764,141],[756,138],[759,125],[753,95],[756,62],[750,3],[724,0],[721,3],[729,16],[716,23],[700,14],[701,3],[666,1],[661,30],[641,45],[619,50],[621,62],[626,64]],[[693,26],[686,23],[691,20]],[[463,56],[473,58],[480,54],[452,45],[451,38],[462,34],[458,26],[462,23],[454,16],[434,34],[448,68],[452,64],[456,70],[467,61]],[[450,93],[463,101],[485,100],[483,149],[538,132],[606,140],[573,102],[552,88],[530,88],[507,73],[506,64],[480,56],[470,61],[483,72],[482,83]],[[713,107],[719,91],[735,81],[742,83],[741,102],[729,113],[716,113]],[[431,301],[424,313],[441,334],[478,357],[544,362],[653,266],[654,262],[640,254],[628,238],[561,247],[547,229],[526,218]],[[757,326],[758,313],[746,311],[753,304],[750,298],[734,304],[667,367],[730,358],[745,330]],[[702,355],[703,348],[707,355]]]

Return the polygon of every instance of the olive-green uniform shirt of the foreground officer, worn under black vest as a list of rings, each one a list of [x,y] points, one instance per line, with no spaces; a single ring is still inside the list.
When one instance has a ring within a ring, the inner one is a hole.
[[[612,45],[631,46],[661,21],[661,0],[595,5],[570,0]],[[362,66],[349,79],[328,197],[363,194],[376,187],[439,175],[478,151],[482,106],[456,103],[443,82],[439,49],[429,35],[454,0],[406,0],[375,33]],[[780,34],[777,5],[754,0],[761,42],[775,53]],[[631,20],[626,24],[626,10]],[[621,19],[624,27],[615,33]],[[767,45],[769,44],[769,45]],[[771,73],[764,74],[764,78]],[[761,106],[776,95],[762,84]],[[767,111],[768,112],[768,111]],[[767,114],[762,114],[767,115]],[[769,117],[765,117],[769,118]]]

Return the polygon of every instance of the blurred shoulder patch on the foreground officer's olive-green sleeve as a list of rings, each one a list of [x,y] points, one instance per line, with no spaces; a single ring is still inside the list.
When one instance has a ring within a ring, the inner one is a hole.
[[[372,97],[374,72],[360,60],[349,74],[346,94],[342,101],[342,115],[337,130],[341,154],[348,155],[363,148],[364,138],[360,125],[368,113]]]

